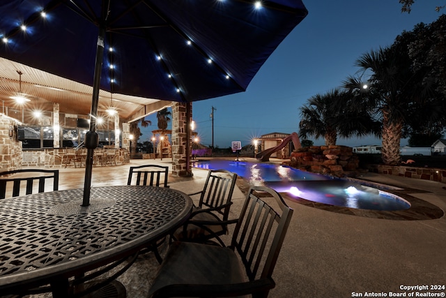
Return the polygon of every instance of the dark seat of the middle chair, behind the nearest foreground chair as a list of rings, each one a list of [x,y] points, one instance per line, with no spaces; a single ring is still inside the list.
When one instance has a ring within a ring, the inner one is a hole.
[[[194,207],[192,209],[192,213],[194,211],[201,210],[199,207]],[[189,219],[190,221],[212,221],[215,223],[218,223],[219,220],[209,212],[200,212],[198,214],[195,214],[192,218]],[[213,234],[222,235],[226,234],[227,229],[225,225],[206,225],[206,228],[211,230]],[[178,228],[174,232],[174,239],[176,240],[187,240],[187,239],[194,239],[194,241],[198,241],[199,239],[206,238],[210,235],[210,232],[208,230],[205,230],[201,228],[199,225],[194,224],[187,224],[186,233],[184,233],[184,227]]]

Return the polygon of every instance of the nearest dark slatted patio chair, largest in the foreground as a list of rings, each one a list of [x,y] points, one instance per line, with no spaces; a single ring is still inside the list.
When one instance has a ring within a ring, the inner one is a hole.
[[[266,198],[266,196],[274,198]],[[262,198],[259,198],[259,196]],[[266,203],[268,202],[268,204]],[[275,206],[275,207],[270,207]],[[176,241],[153,280],[149,297],[268,297],[293,209],[276,191],[252,186],[231,245]]]

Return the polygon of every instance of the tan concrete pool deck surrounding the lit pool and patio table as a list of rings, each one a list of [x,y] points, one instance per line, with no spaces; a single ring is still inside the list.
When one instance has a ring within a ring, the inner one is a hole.
[[[171,159],[132,160],[130,165],[148,163],[169,165]],[[92,186],[126,184],[130,165],[94,167]],[[82,188],[84,171],[61,169],[59,189]],[[169,186],[185,193],[199,191],[207,170],[194,168],[193,173],[190,178],[169,177]],[[373,173],[360,178],[404,188],[407,195],[446,210],[445,184]],[[233,217],[244,200],[243,182],[238,186]],[[277,285],[269,297],[367,297],[366,292],[385,293],[383,297],[401,292],[408,297],[411,292],[446,292],[401,290],[402,285],[446,285],[446,216],[392,220],[343,214],[287,198],[286,202],[295,211],[273,274]],[[146,297],[156,268],[151,253],[141,255],[118,278],[127,297]]]

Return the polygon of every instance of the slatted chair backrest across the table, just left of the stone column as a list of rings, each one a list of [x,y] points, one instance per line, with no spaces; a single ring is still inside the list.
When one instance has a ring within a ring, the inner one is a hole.
[[[134,184],[136,185],[160,186],[160,182],[164,179],[164,183],[161,186],[169,187],[167,186],[168,173],[169,167],[162,165],[139,165],[137,167],[130,167],[127,185],[132,185],[132,180],[134,180],[133,174],[135,174],[136,180]]]

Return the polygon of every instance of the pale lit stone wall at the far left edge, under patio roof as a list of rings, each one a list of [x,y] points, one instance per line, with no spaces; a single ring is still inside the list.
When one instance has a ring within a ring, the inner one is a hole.
[[[22,142],[17,141],[17,120],[0,114],[0,167],[1,171],[22,168]]]

